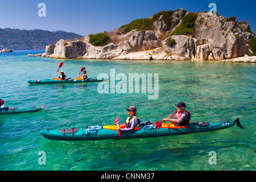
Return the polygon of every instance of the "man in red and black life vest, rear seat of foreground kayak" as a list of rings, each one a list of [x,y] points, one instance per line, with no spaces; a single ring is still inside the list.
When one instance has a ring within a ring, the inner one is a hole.
[[[190,121],[191,114],[189,113],[189,111],[185,110],[186,104],[184,102],[179,102],[178,104],[176,104],[176,106],[177,110],[174,111],[174,114],[169,115],[169,117],[172,119],[163,118],[162,121],[170,121],[176,126],[187,126]]]

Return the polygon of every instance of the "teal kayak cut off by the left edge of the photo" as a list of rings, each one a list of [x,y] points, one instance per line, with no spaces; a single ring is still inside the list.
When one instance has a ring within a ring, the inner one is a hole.
[[[2,107],[0,108],[1,114],[18,114],[18,113],[32,113],[40,111],[42,109],[47,109],[46,105],[42,104],[41,107]]]

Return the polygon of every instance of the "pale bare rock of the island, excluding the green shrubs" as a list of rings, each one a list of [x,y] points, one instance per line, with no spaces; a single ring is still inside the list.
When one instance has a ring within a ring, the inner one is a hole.
[[[90,36],[65,42],[63,39],[46,47],[42,56],[53,58],[84,59],[126,59],[126,60],[223,60],[241,57],[250,53],[246,45],[255,35],[247,32],[249,25],[237,21],[226,22],[223,16],[199,13],[192,36],[174,35],[168,37],[179,26],[186,14],[180,9],[172,14],[172,21],[166,24],[163,16],[154,22],[154,31],[132,30],[127,34],[115,34],[117,43],[96,47],[89,43]],[[167,46],[170,39],[176,44]]]

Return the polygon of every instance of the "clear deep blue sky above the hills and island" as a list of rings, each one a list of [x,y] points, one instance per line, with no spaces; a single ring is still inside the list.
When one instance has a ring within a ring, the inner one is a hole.
[[[46,5],[46,17],[38,16],[39,3]],[[75,32],[80,35],[114,30],[138,18],[181,7],[195,13],[209,11],[216,3],[218,14],[238,21],[246,19],[256,32],[255,1],[188,0],[0,0],[0,28]]]

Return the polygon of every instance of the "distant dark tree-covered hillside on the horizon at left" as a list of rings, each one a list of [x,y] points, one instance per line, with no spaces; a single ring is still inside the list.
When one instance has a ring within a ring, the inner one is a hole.
[[[0,28],[0,49],[46,49],[49,44],[55,44],[60,39],[75,40],[81,38],[72,32],[45,31],[45,30],[19,30],[11,28]]]

